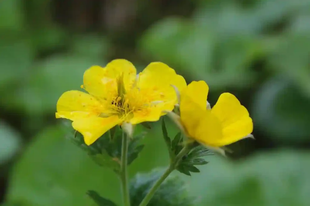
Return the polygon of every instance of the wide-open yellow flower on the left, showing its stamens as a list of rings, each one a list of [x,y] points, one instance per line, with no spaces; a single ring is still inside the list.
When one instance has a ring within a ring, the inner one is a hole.
[[[56,118],[72,120],[87,145],[117,124],[157,121],[177,103],[171,85],[186,88],[184,78],[164,63],[152,62],[136,75],[134,65],[125,59],[89,68],[83,83],[81,88],[88,94],[64,92],[57,102]]]

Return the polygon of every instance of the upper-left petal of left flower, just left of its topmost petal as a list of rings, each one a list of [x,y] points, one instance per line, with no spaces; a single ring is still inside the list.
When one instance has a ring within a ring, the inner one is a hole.
[[[114,76],[107,75],[106,69],[92,66],[84,72],[83,88],[100,100],[117,96],[117,82]]]

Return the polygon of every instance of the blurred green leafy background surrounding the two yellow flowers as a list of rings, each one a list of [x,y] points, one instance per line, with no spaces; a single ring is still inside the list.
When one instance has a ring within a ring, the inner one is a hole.
[[[250,111],[255,141],[176,173],[194,205],[308,206],[309,57],[309,0],[2,0],[0,200],[86,206],[96,190],[121,205],[117,176],[64,138],[55,105],[88,67],[126,58],[138,71],[165,62],[205,80],[211,105],[231,92]],[[148,132],[131,177],[169,162],[160,125]]]

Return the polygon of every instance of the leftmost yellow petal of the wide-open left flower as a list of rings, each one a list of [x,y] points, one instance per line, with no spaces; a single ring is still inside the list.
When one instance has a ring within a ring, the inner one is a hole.
[[[89,94],[77,90],[64,92],[57,102],[56,118],[75,120],[103,113],[104,106]]]

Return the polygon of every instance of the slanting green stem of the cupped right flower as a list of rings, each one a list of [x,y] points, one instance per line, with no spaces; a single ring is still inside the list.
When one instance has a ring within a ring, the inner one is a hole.
[[[148,191],[148,194],[145,195],[142,202],[139,204],[139,206],[146,206],[149,201],[154,196],[155,192],[157,191],[158,187],[162,184],[162,182],[165,181],[165,179],[169,176],[173,170],[175,170],[176,166],[178,165],[179,161],[182,159],[182,157],[188,152],[188,145],[185,145],[184,148],[179,152],[179,154],[175,157],[174,161],[169,165],[169,167],[166,169],[164,174],[155,182],[153,187]]]

